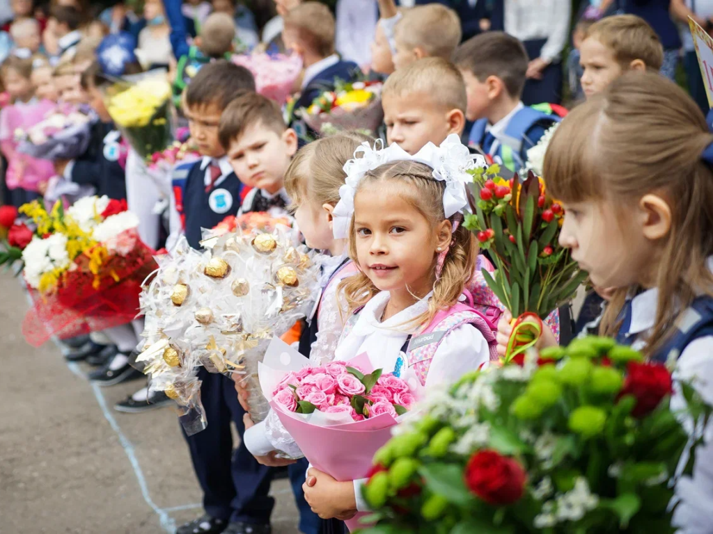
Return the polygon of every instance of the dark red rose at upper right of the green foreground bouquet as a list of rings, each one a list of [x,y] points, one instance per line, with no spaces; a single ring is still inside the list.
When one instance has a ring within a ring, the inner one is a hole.
[[[624,395],[636,397],[636,406],[631,413],[634,417],[644,417],[672,391],[671,374],[665,365],[629,362],[624,387],[619,397]]]

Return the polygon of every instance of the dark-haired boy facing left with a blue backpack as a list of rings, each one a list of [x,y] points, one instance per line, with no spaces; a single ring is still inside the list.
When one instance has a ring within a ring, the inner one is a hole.
[[[527,151],[560,120],[551,109],[530,108],[520,100],[528,70],[523,43],[502,31],[481,33],[459,46],[453,61],[466,83],[466,117],[475,121],[468,145],[518,172]]]

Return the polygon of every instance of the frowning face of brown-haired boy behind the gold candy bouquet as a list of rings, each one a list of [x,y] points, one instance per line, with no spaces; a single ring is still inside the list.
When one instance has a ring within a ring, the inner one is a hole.
[[[227,157],[240,181],[250,187],[277,193],[284,185],[284,173],[297,152],[297,135],[287,129],[278,134],[273,128],[252,123],[230,142]]]

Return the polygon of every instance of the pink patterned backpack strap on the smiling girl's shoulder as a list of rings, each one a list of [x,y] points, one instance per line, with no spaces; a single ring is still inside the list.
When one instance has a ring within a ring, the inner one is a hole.
[[[473,325],[488,342],[491,361],[498,359],[496,334],[492,324],[471,306],[458,303],[449,310],[436,314],[426,330],[419,335],[411,337],[407,349],[409,367],[414,367],[421,384],[426,383],[431,361],[436,355],[438,347],[444,339],[456,328],[463,325]]]

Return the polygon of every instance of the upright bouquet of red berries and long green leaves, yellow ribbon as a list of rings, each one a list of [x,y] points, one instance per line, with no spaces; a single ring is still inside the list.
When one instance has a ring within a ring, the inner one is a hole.
[[[540,318],[572,298],[587,274],[559,244],[564,210],[547,196],[541,178],[530,172],[523,183],[506,182],[498,165],[468,172],[473,184],[465,225],[495,262],[495,273],[483,269],[483,278],[516,318],[508,360],[535,344]]]

